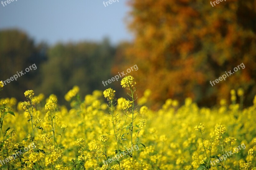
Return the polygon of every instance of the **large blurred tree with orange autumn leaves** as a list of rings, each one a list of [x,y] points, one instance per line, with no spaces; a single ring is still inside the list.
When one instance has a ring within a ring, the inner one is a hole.
[[[125,62],[119,68],[138,65],[133,73],[138,89],[153,91],[155,107],[167,98],[183,101],[186,97],[212,106],[220,98],[229,99],[230,89],[238,87],[244,88],[247,105],[252,103],[256,93],[254,0],[223,1],[214,7],[203,0],[131,0],[130,5],[129,28],[135,40],[124,50]],[[210,85],[241,63],[245,69]]]

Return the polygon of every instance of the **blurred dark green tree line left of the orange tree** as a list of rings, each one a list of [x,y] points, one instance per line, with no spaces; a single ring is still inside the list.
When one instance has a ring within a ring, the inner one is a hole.
[[[18,30],[0,32],[0,73],[6,80],[36,64],[37,69],[4,86],[0,97],[16,97],[24,100],[28,89],[46,96],[54,93],[60,103],[74,85],[80,87],[81,97],[93,90],[105,90],[103,80],[111,78],[111,66],[116,48],[105,38],[101,43],[79,42],[56,44],[48,47],[36,45],[26,33]],[[110,87],[110,86],[109,86]]]

